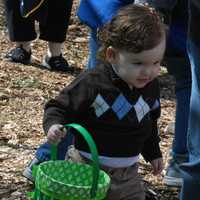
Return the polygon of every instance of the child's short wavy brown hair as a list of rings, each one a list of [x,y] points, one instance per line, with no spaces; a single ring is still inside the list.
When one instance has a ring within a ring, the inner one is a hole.
[[[98,31],[101,44],[100,57],[105,57],[109,46],[140,53],[154,48],[165,34],[165,26],[153,8],[145,5],[130,4],[121,8],[118,13]]]

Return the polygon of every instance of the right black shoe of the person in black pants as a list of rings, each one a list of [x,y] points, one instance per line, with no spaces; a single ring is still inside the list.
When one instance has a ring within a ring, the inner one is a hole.
[[[46,56],[43,61],[43,66],[52,71],[69,72],[72,70],[62,54],[54,57]]]

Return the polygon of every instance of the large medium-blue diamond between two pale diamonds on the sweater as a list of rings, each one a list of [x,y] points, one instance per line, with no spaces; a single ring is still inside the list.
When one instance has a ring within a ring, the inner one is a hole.
[[[119,119],[122,119],[132,108],[126,98],[120,94],[112,105],[112,109]]]

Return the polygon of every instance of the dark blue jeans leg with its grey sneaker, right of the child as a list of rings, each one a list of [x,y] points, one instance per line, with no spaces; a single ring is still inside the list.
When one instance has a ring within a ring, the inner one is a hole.
[[[182,63],[182,65],[181,65]],[[180,164],[188,161],[187,129],[191,95],[191,69],[189,62],[181,60],[168,66],[168,71],[176,79],[176,119],[175,133],[171,156],[164,183],[170,186],[181,186],[182,175]]]

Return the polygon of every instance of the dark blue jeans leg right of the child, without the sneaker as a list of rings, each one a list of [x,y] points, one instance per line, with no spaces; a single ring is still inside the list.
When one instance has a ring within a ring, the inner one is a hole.
[[[176,70],[173,70],[174,68]],[[191,66],[190,64],[184,66],[181,64],[169,65],[168,71],[176,79],[176,119],[172,145],[172,155],[176,157],[179,154],[188,154],[187,130],[191,95]]]

